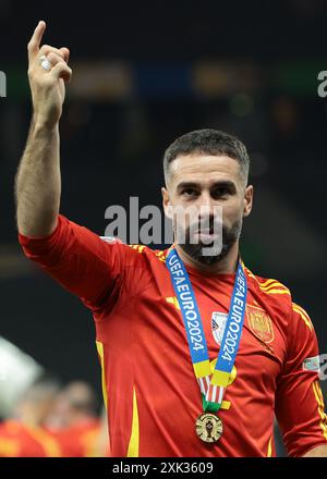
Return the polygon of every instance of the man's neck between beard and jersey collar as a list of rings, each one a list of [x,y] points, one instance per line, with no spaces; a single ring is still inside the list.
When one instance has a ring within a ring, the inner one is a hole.
[[[196,261],[194,258],[189,256],[180,245],[177,245],[177,250],[182,259],[182,261],[197,271],[208,274],[233,274],[237,271],[238,260],[239,260],[239,242],[237,242],[231,249],[228,251],[226,258],[221,261],[215,262],[213,265],[204,265],[203,262]]]

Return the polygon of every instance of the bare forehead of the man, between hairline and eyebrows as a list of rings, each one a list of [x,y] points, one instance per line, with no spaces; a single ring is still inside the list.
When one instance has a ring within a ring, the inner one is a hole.
[[[237,179],[240,174],[240,164],[226,155],[184,155],[175,158],[170,164],[172,180],[182,179],[219,179],[230,176]]]

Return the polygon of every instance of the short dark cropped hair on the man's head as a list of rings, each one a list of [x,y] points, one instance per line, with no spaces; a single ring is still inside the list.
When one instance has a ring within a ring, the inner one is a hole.
[[[165,151],[164,173],[166,184],[169,179],[170,163],[179,156],[203,153],[226,155],[237,160],[241,167],[241,174],[247,182],[250,158],[245,145],[235,136],[219,130],[195,130],[177,138]]]

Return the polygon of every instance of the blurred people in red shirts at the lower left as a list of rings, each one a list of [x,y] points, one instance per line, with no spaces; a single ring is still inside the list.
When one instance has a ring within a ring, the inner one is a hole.
[[[83,381],[64,386],[35,381],[0,422],[0,457],[104,457],[109,455],[105,412]]]

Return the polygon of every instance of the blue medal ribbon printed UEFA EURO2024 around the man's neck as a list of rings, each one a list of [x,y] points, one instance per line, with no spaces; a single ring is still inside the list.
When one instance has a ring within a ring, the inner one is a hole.
[[[220,351],[213,374],[194,291],[185,266],[174,248],[167,256],[166,266],[182,311],[193,369],[202,393],[203,408],[205,412],[217,413],[222,404],[242,335],[247,294],[243,263],[240,259]]]

